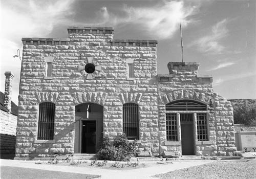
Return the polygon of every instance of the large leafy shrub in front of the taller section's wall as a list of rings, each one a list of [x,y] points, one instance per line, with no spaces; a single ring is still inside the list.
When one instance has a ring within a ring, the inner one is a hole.
[[[98,151],[99,160],[109,161],[130,161],[131,157],[136,154],[136,141],[129,142],[125,134],[111,140],[103,138],[101,148]]]

